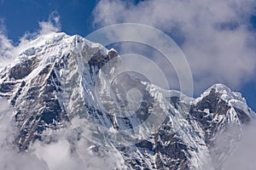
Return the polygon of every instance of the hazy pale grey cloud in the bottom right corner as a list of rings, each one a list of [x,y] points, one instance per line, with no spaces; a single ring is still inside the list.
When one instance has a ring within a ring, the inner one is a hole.
[[[211,148],[213,166],[223,170],[253,170],[256,167],[255,130],[255,122],[251,122],[242,128],[232,124],[223,132],[217,133]],[[206,164],[204,167],[207,169],[211,166]]]

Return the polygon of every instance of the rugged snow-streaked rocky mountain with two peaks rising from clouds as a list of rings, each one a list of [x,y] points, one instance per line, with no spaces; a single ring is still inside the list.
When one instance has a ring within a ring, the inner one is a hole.
[[[72,125],[93,153],[115,150],[123,163],[113,169],[221,169],[255,120],[241,94],[222,84],[192,99],[132,72],[115,78],[119,65],[114,49],[65,33],[20,49],[0,72],[20,151],[45,130]]]

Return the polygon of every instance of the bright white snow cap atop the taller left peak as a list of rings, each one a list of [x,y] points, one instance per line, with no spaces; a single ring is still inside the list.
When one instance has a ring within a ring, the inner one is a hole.
[[[81,48],[101,48],[105,52],[108,52],[101,44],[90,42],[84,37],[79,35],[68,36],[64,32],[50,32],[49,34],[37,37],[30,42],[23,42],[16,48],[14,48],[14,56],[19,60],[32,58],[37,56],[38,58],[50,58],[53,55],[60,57],[59,54],[67,54],[71,51],[79,53]]]

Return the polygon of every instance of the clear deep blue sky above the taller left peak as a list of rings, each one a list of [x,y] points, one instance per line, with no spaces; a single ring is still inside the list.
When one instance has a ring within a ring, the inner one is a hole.
[[[57,11],[61,16],[61,31],[86,36],[92,31],[92,10],[96,1],[33,1],[8,0],[0,3],[0,17],[4,19],[7,34],[18,42],[26,31],[38,30],[38,21],[48,20]]]

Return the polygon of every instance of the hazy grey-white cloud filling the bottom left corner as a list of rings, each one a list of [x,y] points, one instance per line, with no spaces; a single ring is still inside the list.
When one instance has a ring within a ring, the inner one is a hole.
[[[15,144],[17,129],[12,121],[13,110],[8,102],[0,99],[0,169],[47,170],[47,164],[37,157],[18,152]]]

